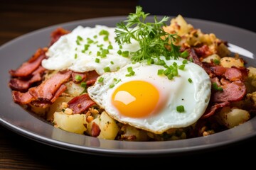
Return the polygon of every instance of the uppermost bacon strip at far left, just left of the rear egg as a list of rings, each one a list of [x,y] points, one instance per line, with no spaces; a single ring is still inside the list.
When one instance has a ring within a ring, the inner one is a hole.
[[[18,67],[16,70],[11,69],[9,74],[11,74],[12,77],[28,77],[41,66],[42,60],[46,58],[46,50],[46,48],[38,49],[28,62],[24,62],[21,64],[21,67]]]

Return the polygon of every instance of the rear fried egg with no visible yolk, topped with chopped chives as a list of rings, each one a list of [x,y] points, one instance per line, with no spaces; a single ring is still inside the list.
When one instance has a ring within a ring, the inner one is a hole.
[[[118,45],[114,40],[114,30],[100,25],[94,28],[78,26],[49,47],[48,59],[42,61],[42,66],[74,72],[95,70],[100,75],[116,71],[131,63],[131,56],[122,54],[139,50],[139,43],[132,40],[131,44]]]

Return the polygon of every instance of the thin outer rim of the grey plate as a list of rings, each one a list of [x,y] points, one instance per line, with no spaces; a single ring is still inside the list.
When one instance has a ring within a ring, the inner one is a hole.
[[[153,17],[153,16],[149,16],[149,17]],[[162,17],[162,16],[157,16],[157,17]],[[174,18],[175,16],[169,16],[170,18]],[[106,16],[106,17],[99,17],[99,18],[87,18],[87,19],[82,19],[82,20],[77,20],[77,21],[69,21],[69,22],[65,22],[65,23],[58,23],[55,24],[53,26],[48,26],[45,28],[40,28],[38,30],[33,30],[30,33],[26,33],[23,35],[18,36],[17,38],[14,38],[13,40],[10,40],[9,42],[4,43],[4,45],[1,45],[0,47],[0,54],[1,54],[1,50],[5,49],[6,47],[9,47],[10,45],[14,44],[15,42],[18,42],[20,40],[23,40],[24,38],[27,38],[29,36],[33,36],[36,34],[40,34],[42,32],[45,32],[46,30],[53,30],[53,28],[58,28],[58,27],[63,27],[65,28],[66,26],[78,26],[78,24],[80,25],[81,23],[95,23],[98,21],[106,21],[106,20],[119,20],[119,19],[124,19],[127,18],[127,16]],[[256,33],[252,32],[251,30],[246,30],[244,28],[238,28],[236,26],[230,26],[228,24],[225,23],[218,23],[215,21],[206,21],[206,20],[202,20],[202,19],[198,19],[198,18],[186,18],[184,17],[186,21],[188,21],[188,23],[190,21],[194,21],[194,22],[199,22],[199,23],[210,23],[210,24],[215,24],[215,25],[219,25],[219,26],[224,26],[230,29],[235,29],[235,30],[239,30],[248,34],[252,34],[255,36],[256,38]],[[193,25],[193,24],[192,24]],[[256,39],[255,39],[256,40]],[[253,53],[255,55],[255,52]],[[0,56],[1,57],[1,56]],[[26,60],[26,59],[25,59]],[[1,105],[1,103],[0,103]],[[22,109],[22,108],[21,108]],[[32,116],[32,115],[31,115]],[[256,124],[256,120],[255,118],[253,118],[255,124]],[[251,120],[250,120],[251,121]],[[250,124],[250,123],[245,123],[245,125]],[[254,137],[256,135],[256,131],[253,131],[253,133],[251,134],[247,134],[245,136],[240,137],[239,139],[233,139],[233,140],[228,140],[228,141],[223,141],[223,142],[218,142],[213,144],[206,144],[206,145],[196,145],[193,147],[183,147],[183,148],[164,148],[164,149],[111,149],[111,148],[101,148],[101,147],[94,147],[94,146],[82,146],[82,145],[76,145],[76,144],[72,144],[72,143],[67,143],[67,142],[63,142],[63,141],[59,141],[59,140],[55,140],[53,138],[50,137],[44,137],[41,135],[36,134],[35,132],[30,132],[28,130],[26,130],[25,128],[21,128],[18,125],[14,125],[13,123],[8,122],[7,120],[5,120],[2,117],[2,113],[0,113],[0,125],[3,125],[4,127],[10,129],[13,132],[18,133],[19,135],[22,135],[24,137],[27,137],[31,140],[35,140],[37,142],[41,142],[44,143],[46,145],[51,145],[53,147],[60,147],[62,149],[68,149],[68,150],[72,150],[75,152],[82,152],[82,153],[87,153],[87,154],[100,154],[100,155],[112,155],[112,156],[154,156],[154,155],[170,155],[170,154],[184,154],[186,152],[186,154],[188,154],[189,152],[195,152],[198,151],[200,152],[202,149],[215,149],[218,147],[223,147],[225,145],[232,145],[235,144],[237,142],[240,142],[242,140],[247,140],[251,137]],[[239,127],[242,127],[242,125],[240,125]],[[239,128],[238,127],[238,128]],[[254,128],[254,126],[252,126]],[[256,127],[256,125],[255,125]],[[227,131],[227,130],[225,130]],[[192,139],[186,139],[186,141],[190,140],[200,140],[202,138],[213,138],[214,136],[219,136],[220,133],[223,132],[218,132],[216,134],[210,135],[208,137],[196,137],[196,138],[192,138]],[[88,136],[85,136],[88,137]],[[83,138],[85,138],[83,137]],[[88,137],[88,138],[92,138],[92,137]],[[100,140],[100,142],[105,142],[105,140]],[[113,141],[114,143],[119,143],[120,141]],[[121,141],[124,142],[124,141]],[[165,141],[166,143],[171,143],[173,141]],[[127,143],[127,142],[125,142]],[[137,142],[133,142],[133,143],[137,143]],[[139,142],[139,143],[143,143],[146,145],[151,144],[151,142]],[[163,143],[163,142],[161,142]],[[137,143],[138,144],[138,143]]]

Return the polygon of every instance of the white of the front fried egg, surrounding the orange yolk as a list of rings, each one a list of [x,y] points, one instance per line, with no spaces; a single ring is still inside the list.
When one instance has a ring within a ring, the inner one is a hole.
[[[171,65],[173,62],[178,65],[182,64],[181,60],[169,60],[166,61],[166,64]],[[125,76],[128,73],[128,67],[133,68],[134,76]],[[161,134],[170,128],[184,128],[196,123],[206,111],[210,100],[211,83],[208,74],[197,64],[189,62],[184,70],[178,69],[178,77],[169,80],[165,76],[157,75],[157,71],[163,68],[154,64],[127,64],[117,72],[102,74],[101,77],[104,81],[97,81],[94,86],[87,89],[87,92],[90,98],[105,108],[105,111],[112,118],[156,134]],[[192,79],[193,82],[188,82],[188,78]],[[118,86],[132,80],[148,81],[156,86],[159,89],[160,102],[165,102],[165,107],[159,113],[145,118],[130,118],[120,114],[112,106],[112,94]],[[111,84],[114,84],[113,88],[110,88]],[[176,106],[181,105],[185,108],[183,113],[176,111]]]

